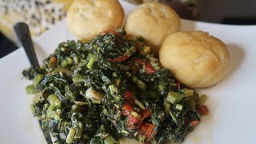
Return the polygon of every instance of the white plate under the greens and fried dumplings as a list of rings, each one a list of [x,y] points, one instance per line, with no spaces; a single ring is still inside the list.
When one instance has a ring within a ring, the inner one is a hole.
[[[133,5],[122,2],[126,14]],[[209,96],[210,114],[184,143],[256,143],[256,26],[227,26],[182,20],[182,30],[205,30],[222,39],[230,51],[229,74],[216,86],[200,90]],[[65,21],[35,39],[39,60],[54,52],[59,42],[74,37]],[[29,66],[24,50],[0,60],[0,143],[46,143],[30,113],[31,95],[22,79]]]

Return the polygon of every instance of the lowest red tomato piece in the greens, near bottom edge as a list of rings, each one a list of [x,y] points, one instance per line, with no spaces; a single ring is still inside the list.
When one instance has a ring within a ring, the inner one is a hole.
[[[154,135],[157,134],[154,130],[154,125],[150,123],[142,123],[140,126],[140,132],[146,136],[146,142],[149,142],[150,139],[154,138]]]

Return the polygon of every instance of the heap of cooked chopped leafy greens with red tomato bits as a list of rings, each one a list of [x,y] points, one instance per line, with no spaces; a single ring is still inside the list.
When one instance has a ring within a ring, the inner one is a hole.
[[[207,114],[199,96],[162,69],[143,38],[99,34],[88,43],[67,41],[40,68],[23,71],[42,129],[66,143],[182,142]]]

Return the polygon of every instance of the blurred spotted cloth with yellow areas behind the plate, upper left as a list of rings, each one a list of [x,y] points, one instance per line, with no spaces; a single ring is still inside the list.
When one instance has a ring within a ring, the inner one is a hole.
[[[37,37],[66,16],[73,0],[0,0],[0,30],[18,43],[13,26],[26,22],[32,37]]]

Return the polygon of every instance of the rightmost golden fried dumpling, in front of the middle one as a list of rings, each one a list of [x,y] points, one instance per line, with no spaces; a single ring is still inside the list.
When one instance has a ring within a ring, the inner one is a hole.
[[[212,86],[226,75],[230,55],[226,45],[203,31],[171,34],[159,52],[163,67],[186,86]]]

